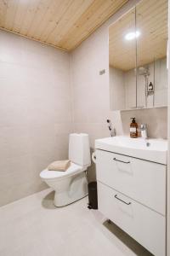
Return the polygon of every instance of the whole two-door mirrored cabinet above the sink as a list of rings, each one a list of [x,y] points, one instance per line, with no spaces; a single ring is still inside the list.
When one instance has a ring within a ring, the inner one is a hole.
[[[142,0],[109,27],[109,64],[111,110],[167,106],[167,0]]]

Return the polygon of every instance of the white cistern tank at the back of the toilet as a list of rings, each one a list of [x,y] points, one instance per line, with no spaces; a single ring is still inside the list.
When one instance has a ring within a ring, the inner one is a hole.
[[[71,133],[69,137],[69,160],[88,167],[91,165],[89,138],[86,133]]]

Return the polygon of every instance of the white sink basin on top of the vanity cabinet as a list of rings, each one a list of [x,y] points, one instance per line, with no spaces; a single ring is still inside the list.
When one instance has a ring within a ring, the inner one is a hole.
[[[95,148],[167,165],[167,140],[106,137],[95,140]]]

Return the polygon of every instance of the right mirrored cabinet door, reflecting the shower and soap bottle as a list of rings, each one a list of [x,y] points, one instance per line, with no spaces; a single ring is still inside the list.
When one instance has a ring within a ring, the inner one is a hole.
[[[136,6],[137,108],[167,106],[167,11],[167,0]]]

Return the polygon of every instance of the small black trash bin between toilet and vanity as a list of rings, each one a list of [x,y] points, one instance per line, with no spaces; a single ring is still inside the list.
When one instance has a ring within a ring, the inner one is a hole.
[[[88,183],[88,209],[98,209],[97,182]]]

